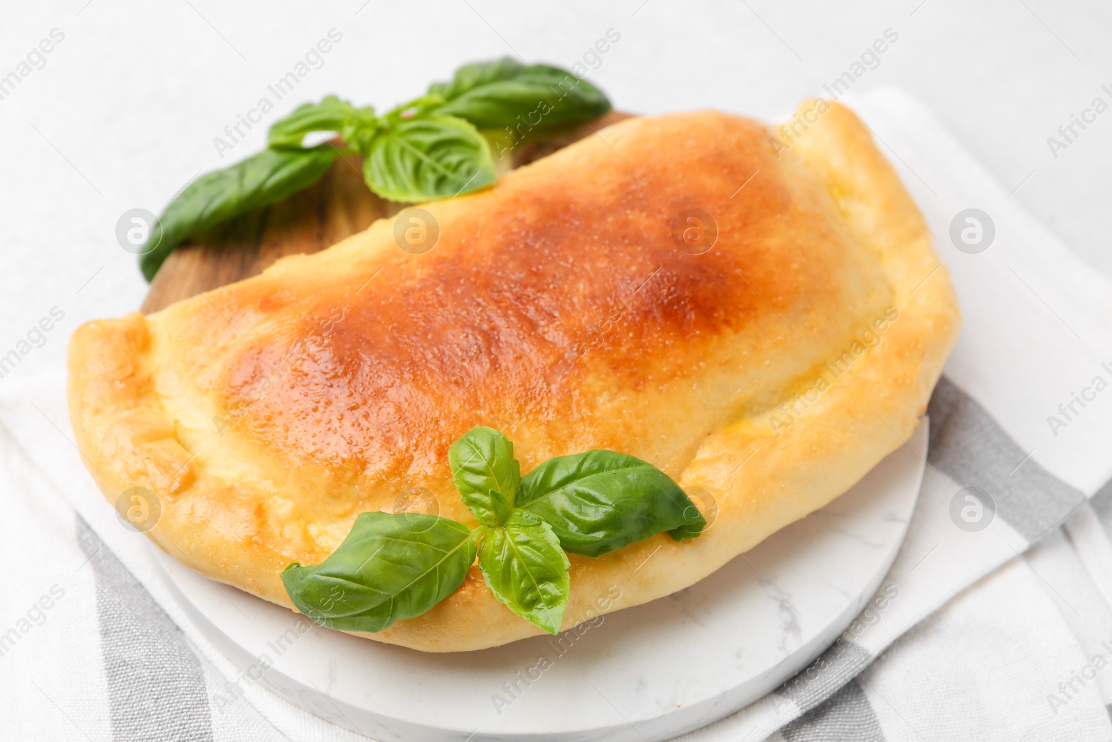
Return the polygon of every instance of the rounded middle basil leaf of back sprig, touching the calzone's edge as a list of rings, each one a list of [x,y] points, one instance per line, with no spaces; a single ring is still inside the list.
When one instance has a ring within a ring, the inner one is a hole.
[[[379,130],[363,172],[370,189],[391,201],[449,198],[495,180],[486,139],[467,121],[439,113]]]

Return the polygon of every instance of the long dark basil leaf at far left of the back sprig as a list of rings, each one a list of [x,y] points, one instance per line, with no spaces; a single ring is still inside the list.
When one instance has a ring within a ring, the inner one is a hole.
[[[190,237],[308,188],[325,175],[336,156],[331,147],[265,149],[193,180],[170,201],[150,230],[147,245],[153,247],[139,258],[142,275],[151,280],[166,256]]]

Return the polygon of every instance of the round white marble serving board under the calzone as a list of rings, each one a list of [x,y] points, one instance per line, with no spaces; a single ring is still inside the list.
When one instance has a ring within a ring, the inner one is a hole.
[[[426,654],[330,631],[151,554],[240,667],[240,685],[264,683],[339,726],[384,741],[655,742],[773,691],[846,630],[907,530],[926,423],[847,493],[706,580],[582,633],[479,652]]]

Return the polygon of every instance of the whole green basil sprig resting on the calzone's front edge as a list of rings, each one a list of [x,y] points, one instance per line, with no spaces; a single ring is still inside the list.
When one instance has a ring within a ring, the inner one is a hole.
[[[694,538],[706,525],[668,475],[613,451],[558,456],[522,478],[514,444],[475,427],[448,449],[448,465],[476,528],[419,513],[364,513],[324,562],[286,567],[294,605],[330,629],[381,631],[459,587],[477,552],[495,597],[555,634],[569,590],[565,552],[600,556],[662,531]]]

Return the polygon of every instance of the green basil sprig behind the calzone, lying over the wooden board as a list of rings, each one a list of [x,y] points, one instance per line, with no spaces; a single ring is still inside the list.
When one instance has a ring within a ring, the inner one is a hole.
[[[315,184],[341,154],[364,157],[364,179],[383,198],[451,198],[495,181],[481,130],[522,133],[579,123],[610,103],[572,72],[512,59],[465,65],[449,82],[378,116],[336,96],[305,103],[270,127],[267,149],[187,186],[166,207],[139,258],[151,280],[186,240]],[[318,135],[307,142],[309,135]],[[342,142],[337,147],[330,138]],[[321,144],[322,142],[322,144]]]

